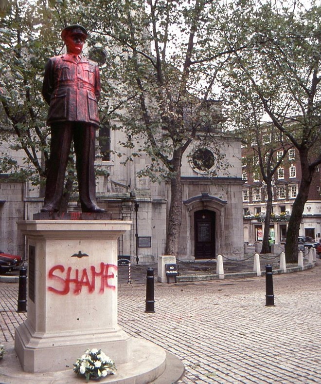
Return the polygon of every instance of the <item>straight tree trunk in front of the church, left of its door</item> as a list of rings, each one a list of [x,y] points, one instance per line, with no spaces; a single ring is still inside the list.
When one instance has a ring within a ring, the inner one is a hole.
[[[181,154],[178,151],[173,157],[174,177],[171,179],[171,204],[169,209],[166,255],[177,256],[180,226],[182,222],[182,184],[180,179]]]

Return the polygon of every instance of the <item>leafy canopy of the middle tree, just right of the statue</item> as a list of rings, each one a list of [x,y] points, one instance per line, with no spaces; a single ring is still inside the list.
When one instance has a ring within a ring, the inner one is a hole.
[[[159,179],[176,174],[178,153],[181,158],[194,140],[204,140],[205,135],[196,133],[205,120],[213,130],[222,120],[209,108],[220,64],[213,61],[211,9],[207,1],[91,3],[92,44],[108,48],[106,92],[113,96],[108,110],[117,120],[114,129],[128,137],[122,146],[132,150],[124,163],[150,156],[142,175]],[[213,134],[210,139],[215,142]]]

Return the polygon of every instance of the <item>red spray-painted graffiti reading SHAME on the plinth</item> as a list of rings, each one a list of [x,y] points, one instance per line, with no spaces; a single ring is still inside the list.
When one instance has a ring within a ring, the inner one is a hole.
[[[62,265],[55,265],[48,272],[48,279],[55,282],[54,287],[48,287],[48,290],[58,295],[67,295],[71,291],[73,294],[78,295],[81,293],[83,287],[87,287],[89,293],[95,291],[96,283],[99,285],[99,293],[104,293],[105,288],[116,289],[116,286],[110,283],[110,280],[115,278],[114,271],[117,271],[117,266],[113,264],[100,263],[100,270],[96,271],[94,266],[84,268],[82,271],[79,269],[67,269]],[[98,282],[97,282],[98,280]],[[60,288],[60,289],[58,289]],[[98,288],[98,287],[97,287]]]

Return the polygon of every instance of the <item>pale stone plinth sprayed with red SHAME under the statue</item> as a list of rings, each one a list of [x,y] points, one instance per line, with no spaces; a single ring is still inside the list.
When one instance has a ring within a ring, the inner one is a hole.
[[[87,348],[116,365],[132,358],[130,337],[117,324],[117,239],[128,221],[31,220],[27,236],[28,317],[15,349],[26,372],[72,367]]]

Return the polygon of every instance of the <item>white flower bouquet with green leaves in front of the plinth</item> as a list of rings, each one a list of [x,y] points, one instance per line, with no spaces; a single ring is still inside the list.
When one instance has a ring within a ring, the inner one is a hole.
[[[114,375],[116,366],[101,349],[92,348],[91,350],[86,349],[85,354],[80,359],[77,359],[73,371],[77,375],[84,375],[86,383],[88,383],[89,379],[99,379],[107,375]]]

